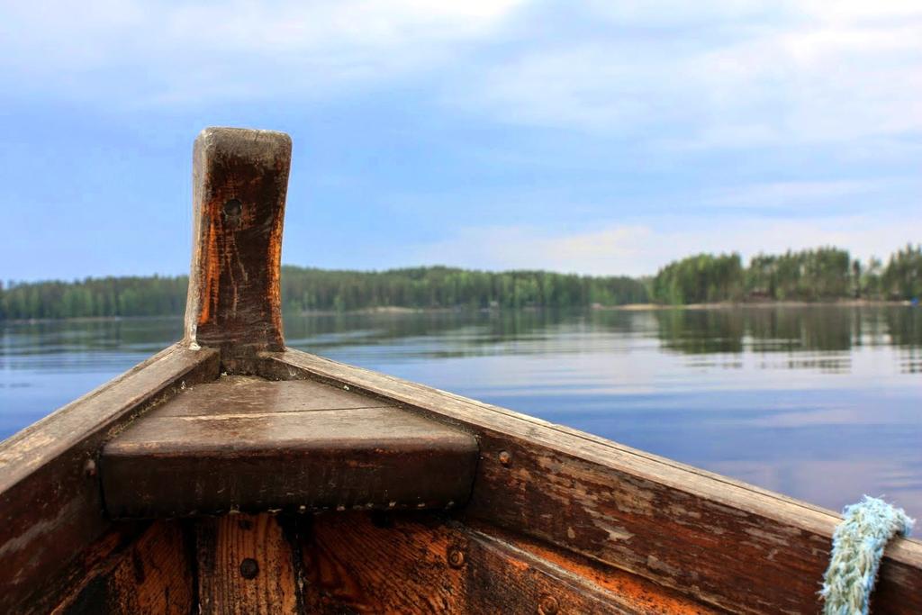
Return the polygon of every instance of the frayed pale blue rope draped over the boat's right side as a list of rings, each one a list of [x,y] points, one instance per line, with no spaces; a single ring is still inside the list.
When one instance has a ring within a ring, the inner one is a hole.
[[[864,496],[845,506],[845,519],[833,534],[833,555],[820,596],[824,615],[868,615],[870,594],[881,568],[883,549],[893,536],[909,536],[914,519],[902,508]]]

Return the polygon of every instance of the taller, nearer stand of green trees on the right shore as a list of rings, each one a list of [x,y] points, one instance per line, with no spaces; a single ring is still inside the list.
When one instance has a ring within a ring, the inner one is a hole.
[[[922,296],[922,246],[907,245],[886,265],[823,247],[758,254],[697,254],[670,263],[650,283],[653,301],[670,304],[741,301],[912,300]]]

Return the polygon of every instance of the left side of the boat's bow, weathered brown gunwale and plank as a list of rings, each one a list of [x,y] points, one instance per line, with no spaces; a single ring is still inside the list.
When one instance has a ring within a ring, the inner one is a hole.
[[[56,575],[110,527],[96,475],[101,444],[218,370],[216,352],[173,346],[0,443],[0,612],[53,591]]]

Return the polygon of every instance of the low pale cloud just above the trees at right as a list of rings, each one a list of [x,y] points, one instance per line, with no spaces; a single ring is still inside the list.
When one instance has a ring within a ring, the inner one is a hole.
[[[834,245],[854,257],[886,257],[906,242],[916,242],[914,219],[874,215],[836,219],[661,219],[658,223],[555,232],[538,227],[467,228],[455,236],[408,246],[409,263],[441,263],[483,269],[542,268],[593,275],[654,274],[669,261],[700,252],[782,253],[787,249]]]

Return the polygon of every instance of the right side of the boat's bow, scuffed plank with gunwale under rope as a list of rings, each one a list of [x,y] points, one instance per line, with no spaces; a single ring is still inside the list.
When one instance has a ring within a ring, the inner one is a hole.
[[[467,515],[733,612],[811,612],[839,515],[461,396],[289,349],[262,375],[312,378],[476,433]],[[922,612],[922,544],[894,539],[875,612]]]

